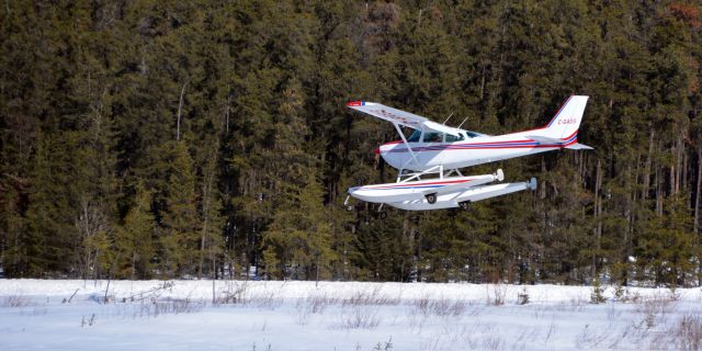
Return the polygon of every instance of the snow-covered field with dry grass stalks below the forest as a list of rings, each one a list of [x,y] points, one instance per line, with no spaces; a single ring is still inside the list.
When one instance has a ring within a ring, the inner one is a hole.
[[[603,288],[0,280],[0,350],[702,349],[700,288]]]

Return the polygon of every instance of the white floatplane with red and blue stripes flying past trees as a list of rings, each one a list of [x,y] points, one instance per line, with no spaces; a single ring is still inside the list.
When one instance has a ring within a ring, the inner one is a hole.
[[[523,190],[535,190],[536,179],[517,183],[492,174],[463,176],[460,169],[561,149],[592,149],[578,143],[578,131],[588,97],[573,95],[543,127],[486,135],[450,127],[414,113],[375,102],[352,101],[347,106],[390,122],[400,140],[381,145],[375,152],[398,170],[394,183],[353,186],[349,196],[408,211],[461,207],[469,203]],[[464,121],[465,122],[465,121]],[[463,123],[462,123],[463,124]],[[461,124],[461,125],[462,125]],[[414,129],[405,136],[400,126]],[[344,204],[348,205],[349,197]],[[385,217],[384,211],[381,216]]]

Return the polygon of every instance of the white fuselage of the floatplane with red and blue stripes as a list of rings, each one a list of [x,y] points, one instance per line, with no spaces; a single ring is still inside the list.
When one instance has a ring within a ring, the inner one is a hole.
[[[414,171],[424,171],[442,166],[444,169],[488,163],[516,157],[558,150],[577,143],[577,132],[561,143],[540,143],[525,137],[534,131],[500,136],[477,136],[454,143],[407,143],[392,141],[382,145],[378,152],[392,167]],[[411,148],[409,152],[407,145]]]

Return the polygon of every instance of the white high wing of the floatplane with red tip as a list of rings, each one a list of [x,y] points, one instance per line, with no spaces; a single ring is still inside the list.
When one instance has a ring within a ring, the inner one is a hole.
[[[388,121],[393,124],[399,124],[420,131],[433,131],[458,136],[458,131],[456,128],[452,128],[443,124],[429,121],[427,117],[393,109],[376,102],[352,101],[347,103],[347,106],[363,113],[367,113],[374,117]]]

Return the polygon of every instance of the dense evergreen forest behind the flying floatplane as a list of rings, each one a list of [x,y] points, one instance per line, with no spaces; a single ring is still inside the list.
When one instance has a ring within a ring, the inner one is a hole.
[[[11,278],[697,285],[697,1],[8,1]],[[343,205],[395,170],[378,101],[501,134],[590,95],[593,151],[475,167],[540,188],[469,212]]]

